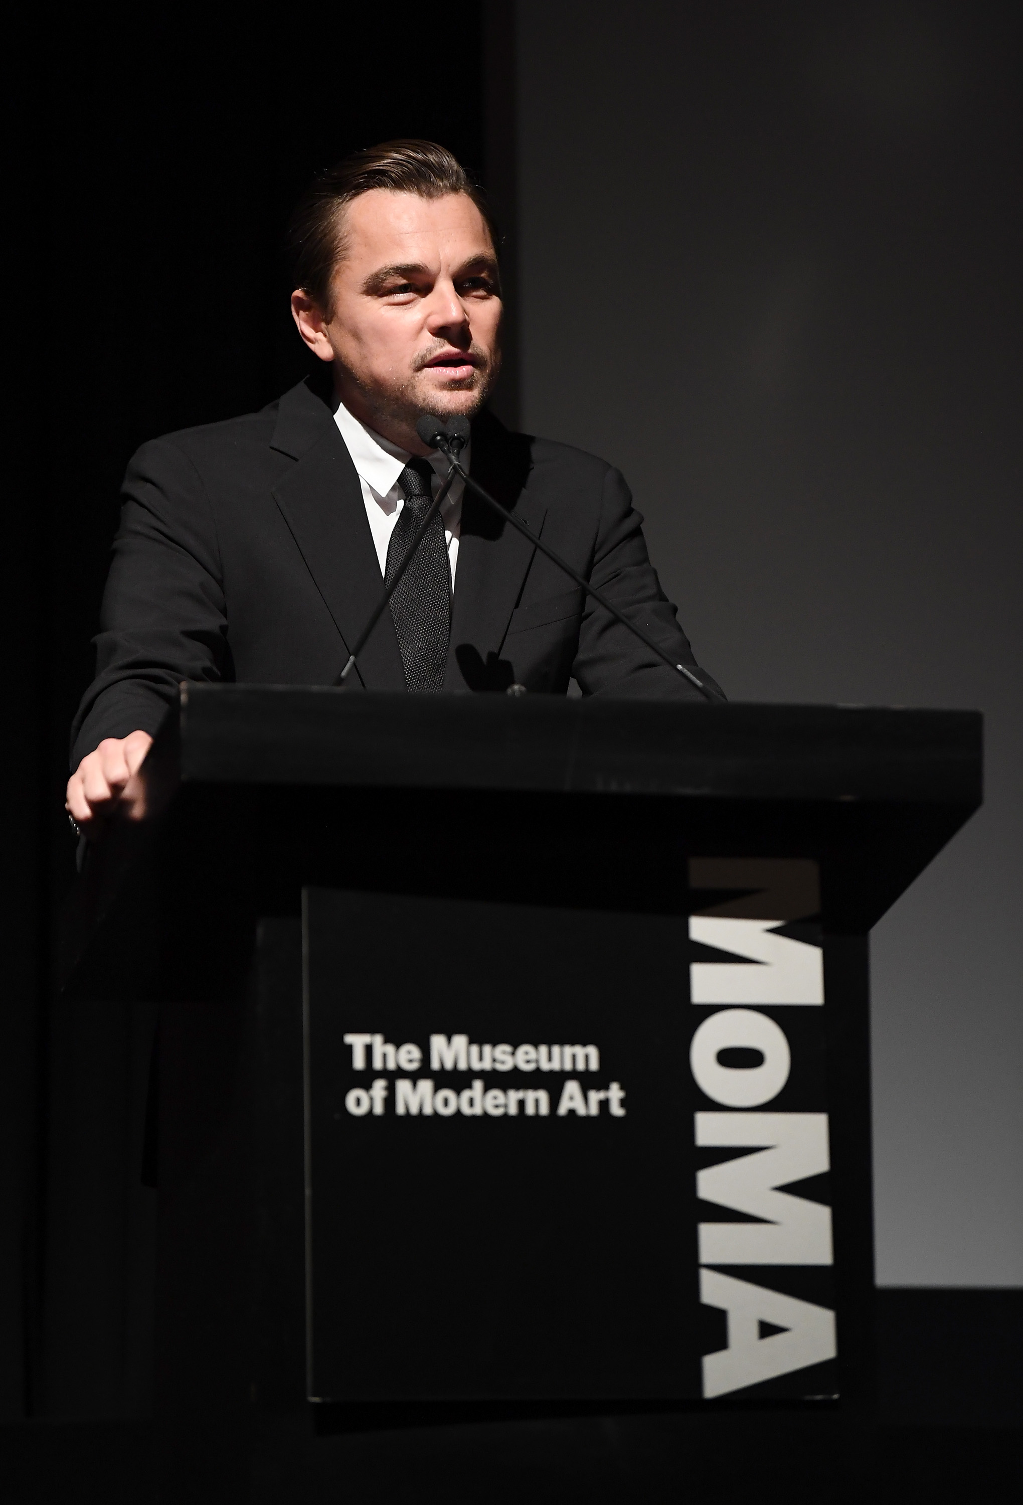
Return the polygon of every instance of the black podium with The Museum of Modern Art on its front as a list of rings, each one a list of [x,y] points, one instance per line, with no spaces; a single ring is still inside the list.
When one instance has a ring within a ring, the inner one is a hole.
[[[188,685],[143,784],[62,974],[159,1002],[168,1499],[870,1415],[867,935],[979,715]]]

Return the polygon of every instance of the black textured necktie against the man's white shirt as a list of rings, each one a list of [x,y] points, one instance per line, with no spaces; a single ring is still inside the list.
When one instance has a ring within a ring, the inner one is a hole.
[[[412,459],[397,479],[405,506],[391,530],[387,546],[385,584],[390,585],[423,518],[430,510],[433,470],[429,461]],[[439,512],[391,596],[391,617],[402,650],[405,685],[411,694],[436,695],[444,683],[448,638],[451,635],[451,569]]]

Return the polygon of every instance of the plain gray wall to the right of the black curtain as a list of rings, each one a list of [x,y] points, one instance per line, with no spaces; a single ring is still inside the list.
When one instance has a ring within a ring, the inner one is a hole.
[[[874,932],[889,1285],[1023,1282],[1012,14],[518,5],[524,426],[623,468],[731,698],[987,715]]]

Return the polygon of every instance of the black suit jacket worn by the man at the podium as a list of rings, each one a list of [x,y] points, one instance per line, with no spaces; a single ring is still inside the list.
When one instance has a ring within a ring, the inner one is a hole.
[[[621,474],[566,444],[472,424],[472,474],[626,616],[695,664]],[[382,590],[355,467],[313,381],[229,423],[144,444],[128,467],[72,768],[155,733],[182,680],[332,685]],[[444,689],[698,692],[468,491]],[[403,691],[390,613],[358,662]]]

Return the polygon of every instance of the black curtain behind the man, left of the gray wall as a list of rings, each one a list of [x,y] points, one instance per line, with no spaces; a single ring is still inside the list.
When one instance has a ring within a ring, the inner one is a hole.
[[[283,232],[317,167],[424,135],[483,175],[483,27],[480,5],[445,11],[435,44],[435,21],[408,5],[158,3],[41,12],[11,41],[0,1418],[146,1403],[153,1207],[138,1169],[153,1022],[62,1004],[50,984],[74,873],[68,727],[92,674],[125,464],[144,439],[259,408],[308,369]],[[508,135],[498,123],[490,138]]]

